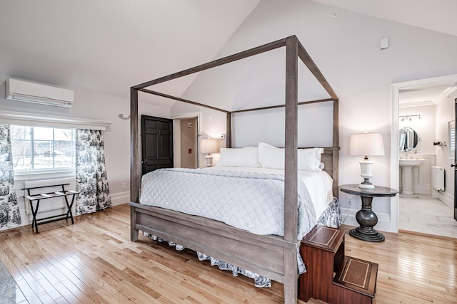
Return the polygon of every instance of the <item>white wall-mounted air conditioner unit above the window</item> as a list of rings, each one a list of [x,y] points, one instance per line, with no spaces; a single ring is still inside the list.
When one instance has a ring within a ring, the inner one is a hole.
[[[6,99],[9,100],[65,108],[70,108],[74,103],[74,92],[72,90],[52,85],[8,78],[6,79],[5,87]]]

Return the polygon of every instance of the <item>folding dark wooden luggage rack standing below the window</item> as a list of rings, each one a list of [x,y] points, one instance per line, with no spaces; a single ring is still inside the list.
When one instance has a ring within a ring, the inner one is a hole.
[[[42,187],[27,187],[23,188],[22,190],[26,191],[26,195],[24,195],[24,199],[29,200],[31,214],[33,216],[33,221],[31,222],[31,229],[35,228],[35,233],[38,234],[38,225],[51,223],[52,221],[60,221],[62,219],[68,220],[71,219],[71,224],[74,224],[73,214],[71,213],[71,207],[73,206],[74,199],[78,191],[74,190],[66,190],[65,186],[69,184],[53,184],[49,186],[42,186]],[[49,187],[61,187],[61,191],[56,192],[46,192],[40,194],[31,194],[30,190],[32,189],[40,189],[40,188],[49,188]],[[71,202],[69,202],[68,196],[71,196]],[[65,214],[58,214],[55,216],[48,216],[43,219],[36,219],[36,214],[38,213],[38,209],[40,206],[40,201],[44,199],[52,199],[55,197],[64,197],[65,204],[66,204],[66,213]],[[34,201],[36,204],[34,206]]]

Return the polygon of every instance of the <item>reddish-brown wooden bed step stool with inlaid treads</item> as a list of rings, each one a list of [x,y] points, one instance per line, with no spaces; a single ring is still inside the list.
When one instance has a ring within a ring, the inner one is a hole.
[[[298,298],[327,303],[370,304],[376,293],[378,264],[344,253],[344,229],[314,227],[301,241],[306,273],[298,278]]]

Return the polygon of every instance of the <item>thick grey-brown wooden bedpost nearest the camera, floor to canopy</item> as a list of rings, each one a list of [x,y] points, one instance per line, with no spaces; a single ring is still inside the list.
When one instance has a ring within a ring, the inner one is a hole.
[[[284,142],[284,240],[296,244],[298,233],[298,39],[286,39],[286,127]],[[292,244],[291,244],[292,246]],[[297,300],[297,256],[293,248],[284,248],[284,302]]]

